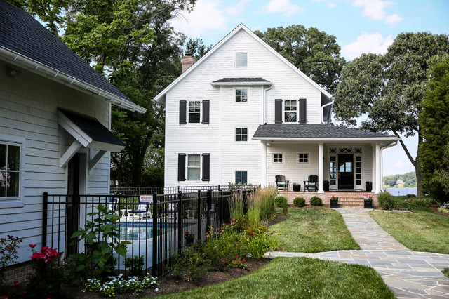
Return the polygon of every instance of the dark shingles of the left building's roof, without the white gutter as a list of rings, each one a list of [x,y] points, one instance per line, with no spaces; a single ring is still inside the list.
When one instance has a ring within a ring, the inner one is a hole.
[[[31,15],[0,0],[0,47],[132,102]]]

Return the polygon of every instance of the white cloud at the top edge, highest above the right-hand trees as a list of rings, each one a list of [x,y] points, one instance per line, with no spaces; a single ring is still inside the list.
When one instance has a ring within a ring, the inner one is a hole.
[[[389,26],[401,22],[400,15],[387,15],[385,8],[394,5],[391,1],[382,0],[354,0],[352,6],[363,7],[363,16],[375,21],[383,21]]]

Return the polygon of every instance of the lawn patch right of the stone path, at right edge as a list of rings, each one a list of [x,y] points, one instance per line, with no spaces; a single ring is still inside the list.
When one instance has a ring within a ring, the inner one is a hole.
[[[449,254],[449,218],[422,206],[410,205],[410,210],[414,213],[372,211],[370,215],[410,250]]]

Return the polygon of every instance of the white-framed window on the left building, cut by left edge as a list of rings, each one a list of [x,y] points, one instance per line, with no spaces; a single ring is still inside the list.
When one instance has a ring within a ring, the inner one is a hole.
[[[20,145],[0,143],[0,198],[19,197]]]

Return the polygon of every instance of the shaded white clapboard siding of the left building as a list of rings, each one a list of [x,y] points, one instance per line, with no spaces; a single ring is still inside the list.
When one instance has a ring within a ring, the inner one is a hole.
[[[5,68],[6,63],[0,62],[0,69]],[[0,72],[0,134],[25,139],[23,204],[4,208],[0,199],[0,237],[13,234],[24,239],[19,262],[29,258],[23,248],[41,241],[43,192],[67,194],[67,170],[59,167],[59,159],[60,142],[65,140],[67,148],[70,140],[61,138],[64,131],[58,125],[58,107],[96,117],[109,127],[107,102],[26,69],[15,77]],[[109,192],[109,153],[88,171],[86,191]]]

